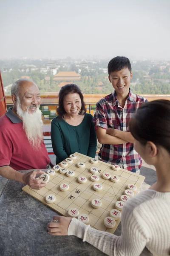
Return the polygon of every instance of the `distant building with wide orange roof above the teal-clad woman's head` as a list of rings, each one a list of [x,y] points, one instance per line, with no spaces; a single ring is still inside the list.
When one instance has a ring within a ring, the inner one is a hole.
[[[53,79],[55,83],[65,82],[65,84],[74,83],[80,80],[81,76],[75,71],[59,71],[59,73],[56,74]]]

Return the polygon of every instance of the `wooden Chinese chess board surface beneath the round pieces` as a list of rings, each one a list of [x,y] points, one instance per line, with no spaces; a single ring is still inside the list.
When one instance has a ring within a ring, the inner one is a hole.
[[[121,168],[119,171],[113,171],[111,164],[102,161],[98,161],[98,163],[94,165],[91,163],[91,157],[77,152],[74,154],[77,155],[77,159],[73,160],[73,163],[68,164],[66,167],[68,170],[75,172],[74,177],[67,177],[66,174],[63,175],[57,171],[54,176],[50,176],[50,181],[48,181],[47,185],[42,189],[34,190],[26,185],[22,188],[23,191],[64,216],[68,216],[69,208],[77,208],[79,214],[85,213],[89,216],[89,224],[91,227],[94,227],[97,230],[114,233],[120,220],[116,221],[116,226],[114,228],[108,229],[103,224],[105,217],[110,216],[109,212],[111,209],[115,209],[115,203],[120,200],[121,195],[124,195],[127,185],[130,183],[135,184],[138,191],[145,177]],[[78,168],[78,162],[84,162],[85,168]],[[90,169],[92,166],[99,169],[99,181],[97,182],[102,183],[103,188],[101,191],[95,191],[93,189],[94,182],[90,179],[92,175]],[[119,182],[114,183],[111,180],[103,179],[102,173],[106,171],[111,174],[114,173],[119,175]],[[85,184],[80,184],[78,182],[77,178],[82,175],[87,178]],[[60,191],[59,186],[62,183],[69,184],[68,191]],[[136,192],[134,192],[134,194],[136,194]],[[49,194],[56,196],[56,201],[52,204],[48,204],[45,201],[45,197]],[[102,206],[98,209],[91,206],[91,201],[94,198],[99,198],[102,201]]]

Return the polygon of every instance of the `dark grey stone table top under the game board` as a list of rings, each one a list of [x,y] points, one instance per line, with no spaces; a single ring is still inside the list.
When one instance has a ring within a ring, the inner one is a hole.
[[[47,224],[57,212],[24,192],[23,186],[25,184],[0,176],[1,256],[105,255],[75,236],[49,235]],[[121,224],[115,232],[120,234]]]

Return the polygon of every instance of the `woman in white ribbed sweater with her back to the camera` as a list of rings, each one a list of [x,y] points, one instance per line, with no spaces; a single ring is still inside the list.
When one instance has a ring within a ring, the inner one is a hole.
[[[74,235],[107,255],[139,256],[146,246],[154,256],[170,255],[170,101],[139,107],[130,120],[135,150],[156,168],[157,181],[130,198],[122,210],[122,234],[115,236],[86,226],[76,218],[54,216],[51,235]]]

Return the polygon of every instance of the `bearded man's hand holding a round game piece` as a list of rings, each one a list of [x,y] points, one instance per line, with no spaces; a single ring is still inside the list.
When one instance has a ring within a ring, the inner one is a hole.
[[[43,174],[41,170],[34,170],[32,172],[25,173],[23,175],[23,182],[28,184],[31,189],[41,189],[46,185],[46,183],[40,183],[40,180],[36,179],[35,177],[37,174]]]

